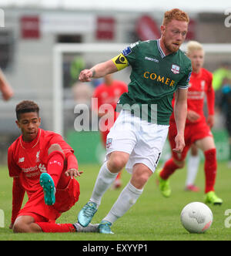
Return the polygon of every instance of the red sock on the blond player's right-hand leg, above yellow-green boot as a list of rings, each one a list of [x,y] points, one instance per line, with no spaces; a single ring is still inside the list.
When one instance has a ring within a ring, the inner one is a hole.
[[[216,149],[207,150],[205,153],[205,175],[206,175],[206,188],[205,193],[214,191],[216,180]]]

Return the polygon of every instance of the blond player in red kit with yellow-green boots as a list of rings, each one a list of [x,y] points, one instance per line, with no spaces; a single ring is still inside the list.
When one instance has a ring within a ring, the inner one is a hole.
[[[214,90],[212,87],[213,75],[208,70],[203,69],[204,51],[199,42],[189,42],[187,45],[187,55],[192,61],[192,76],[189,82],[188,91],[188,114],[185,128],[186,147],[182,153],[172,150],[172,158],[168,160],[163,169],[157,173],[159,177],[159,189],[165,197],[169,197],[171,190],[169,187],[169,177],[176,169],[182,168],[185,163],[186,154],[192,143],[203,150],[205,156],[205,176],[206,176],[206,203],[222,204],[223,200],[216,196],[214,185],[216,181],[216,146],[210,128],[214,123]],[[209,116],[203,113],[203,100],[207,96]],[[170,118],[169,143],[172,149],[175,148],[174,138],[176,136],[176,123],[174,116]]]

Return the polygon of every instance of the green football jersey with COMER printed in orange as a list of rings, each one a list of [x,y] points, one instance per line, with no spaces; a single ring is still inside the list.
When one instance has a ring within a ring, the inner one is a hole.
[[[173,94],[189,86],[190,59],[181,50],[165,56],[159,40],[133,43],[122,55],[132,72],[129,92],[122,94],[117,109],[129,109],[142,120],[168,125]]]

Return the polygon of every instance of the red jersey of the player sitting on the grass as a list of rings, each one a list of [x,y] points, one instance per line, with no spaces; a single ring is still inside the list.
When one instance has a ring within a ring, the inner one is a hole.
[[[26,143],[19,136],[8,148],[8,171],[10,177],[20,177],[20,184],[28,197],[41,190],[39,177],[47,171],[48,150],[52,144],[58,143],[64,153],[73,153],[72,147],[57,133],[39,129],[35,140]]]

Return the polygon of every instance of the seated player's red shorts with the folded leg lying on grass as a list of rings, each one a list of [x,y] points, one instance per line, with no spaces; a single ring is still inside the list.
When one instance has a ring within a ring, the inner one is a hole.
[[[25,207],[19,212],[13,226],[14,232],[20,233],[57,233],[57,232],[97,232],[98,224],[82,227],[79,224],[55,224],[62,212],[69,209],[79,200],[79,183],[71,179],[65,189],[56,190],[57,200],[53,206],[47,206],[42,193],[30,197]],[[35,214],[36,213],[36,214]]]

